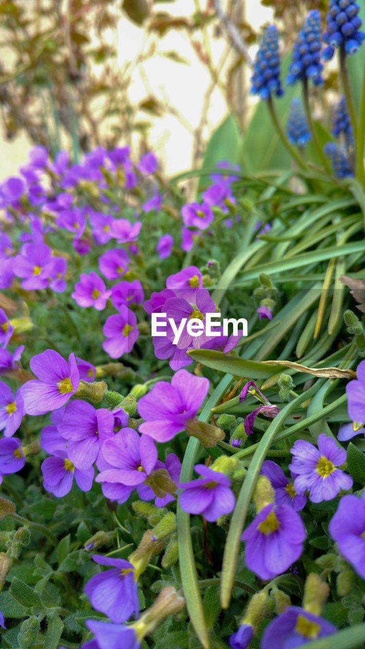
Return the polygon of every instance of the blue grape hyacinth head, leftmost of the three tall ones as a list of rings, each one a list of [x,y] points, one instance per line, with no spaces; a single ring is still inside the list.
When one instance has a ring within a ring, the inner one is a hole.
[[[280,81],[279,38],[275,25],[266,28],[253,64],[251,95],[265,101],[271,93],[277,97],[284,94]]]

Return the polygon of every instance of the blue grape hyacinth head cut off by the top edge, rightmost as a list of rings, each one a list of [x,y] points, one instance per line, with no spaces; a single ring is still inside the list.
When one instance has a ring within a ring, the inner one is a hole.
[[[362,24],[357,15],[359,10],[359,5],[353,0],[329,0],[327,29],[323,34],[327,45],[322,53],[324,60],[329,61],[337,47],[343,47],[346,55],[357,53],[365,40],[364,32],[359,31]]]

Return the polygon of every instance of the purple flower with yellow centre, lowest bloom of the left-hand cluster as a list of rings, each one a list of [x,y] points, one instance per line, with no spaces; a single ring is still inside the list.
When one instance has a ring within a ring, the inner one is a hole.
[[[40,467],[43,473],[43,486],[57,498],[66,496],[72,487],[73,476],[81,491],[90,491],[94,479],[94,467],[76,469],[68,459],[66,450],[55,450],[52,458],[46,458]]]

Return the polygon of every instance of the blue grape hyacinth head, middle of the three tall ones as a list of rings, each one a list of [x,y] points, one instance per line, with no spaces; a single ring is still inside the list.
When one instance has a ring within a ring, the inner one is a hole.
[[[321,14],[317,9],[310,11],[294,43],[289,74],[286,77],[288,86],[298,80],[312,79],[315,86],[321,86]]]

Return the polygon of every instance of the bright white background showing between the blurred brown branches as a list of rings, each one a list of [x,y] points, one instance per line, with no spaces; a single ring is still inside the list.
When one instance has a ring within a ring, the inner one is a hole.
[[[200,4],[204,7],[205,0],[201,0]],[[222,6],[224,5],[225,2],[222,1]],[[157,5],[157,8],[165,10],[164,5]],[[175,16],[188,17],[195,11],[194,0],[175,0],[174,3],[166,5],[166,10]],[[145,34],[143,29],[126,19],[122,12],[120,16],[117,29],[106,32],[105,40],[112,42],[118,51],[118,62],[122,64],[126,59],[133,60],[141,52]],[[270,21],[271,16],[271,10],[260,5],[260,0],[246,1],[246,19],[255,30]],[[197,34],[197,40],[198,38]],[[223,38],[210,38],[210,46],[214,62],[218,62],[224,49]],[[255,48],[251,50],[253,56]],[[163,56],[154,55],[145,62],[142,75],[134,71],[129,99],[133,104],[153,94],[161,103],[167,102],[177,108],[184,123],[190,125],[190,130],[186,129],[181,121],[172,115],[155,118],[147,113],[140,114],[141,120],[153,124],[149,131],[149,143],[161,160],[164,172],[171,176],[191,167],[194,141],[191,129],[196,129],[199,125],[205,90],[210,86],[211,79],[207,68],[192,51],[184,31],[171,30],[162,38],[158,38],[158,51],[177,51],[189,63],[177,64]],[[226,116],[225,101],[220,90],[216,89],[210,101],[205,137],[209,136]],[[24,133],[12,142],[4,141],[3,133],[0,133],[0,180],[16,173],[19,165],[25,162],[30,145]]]

